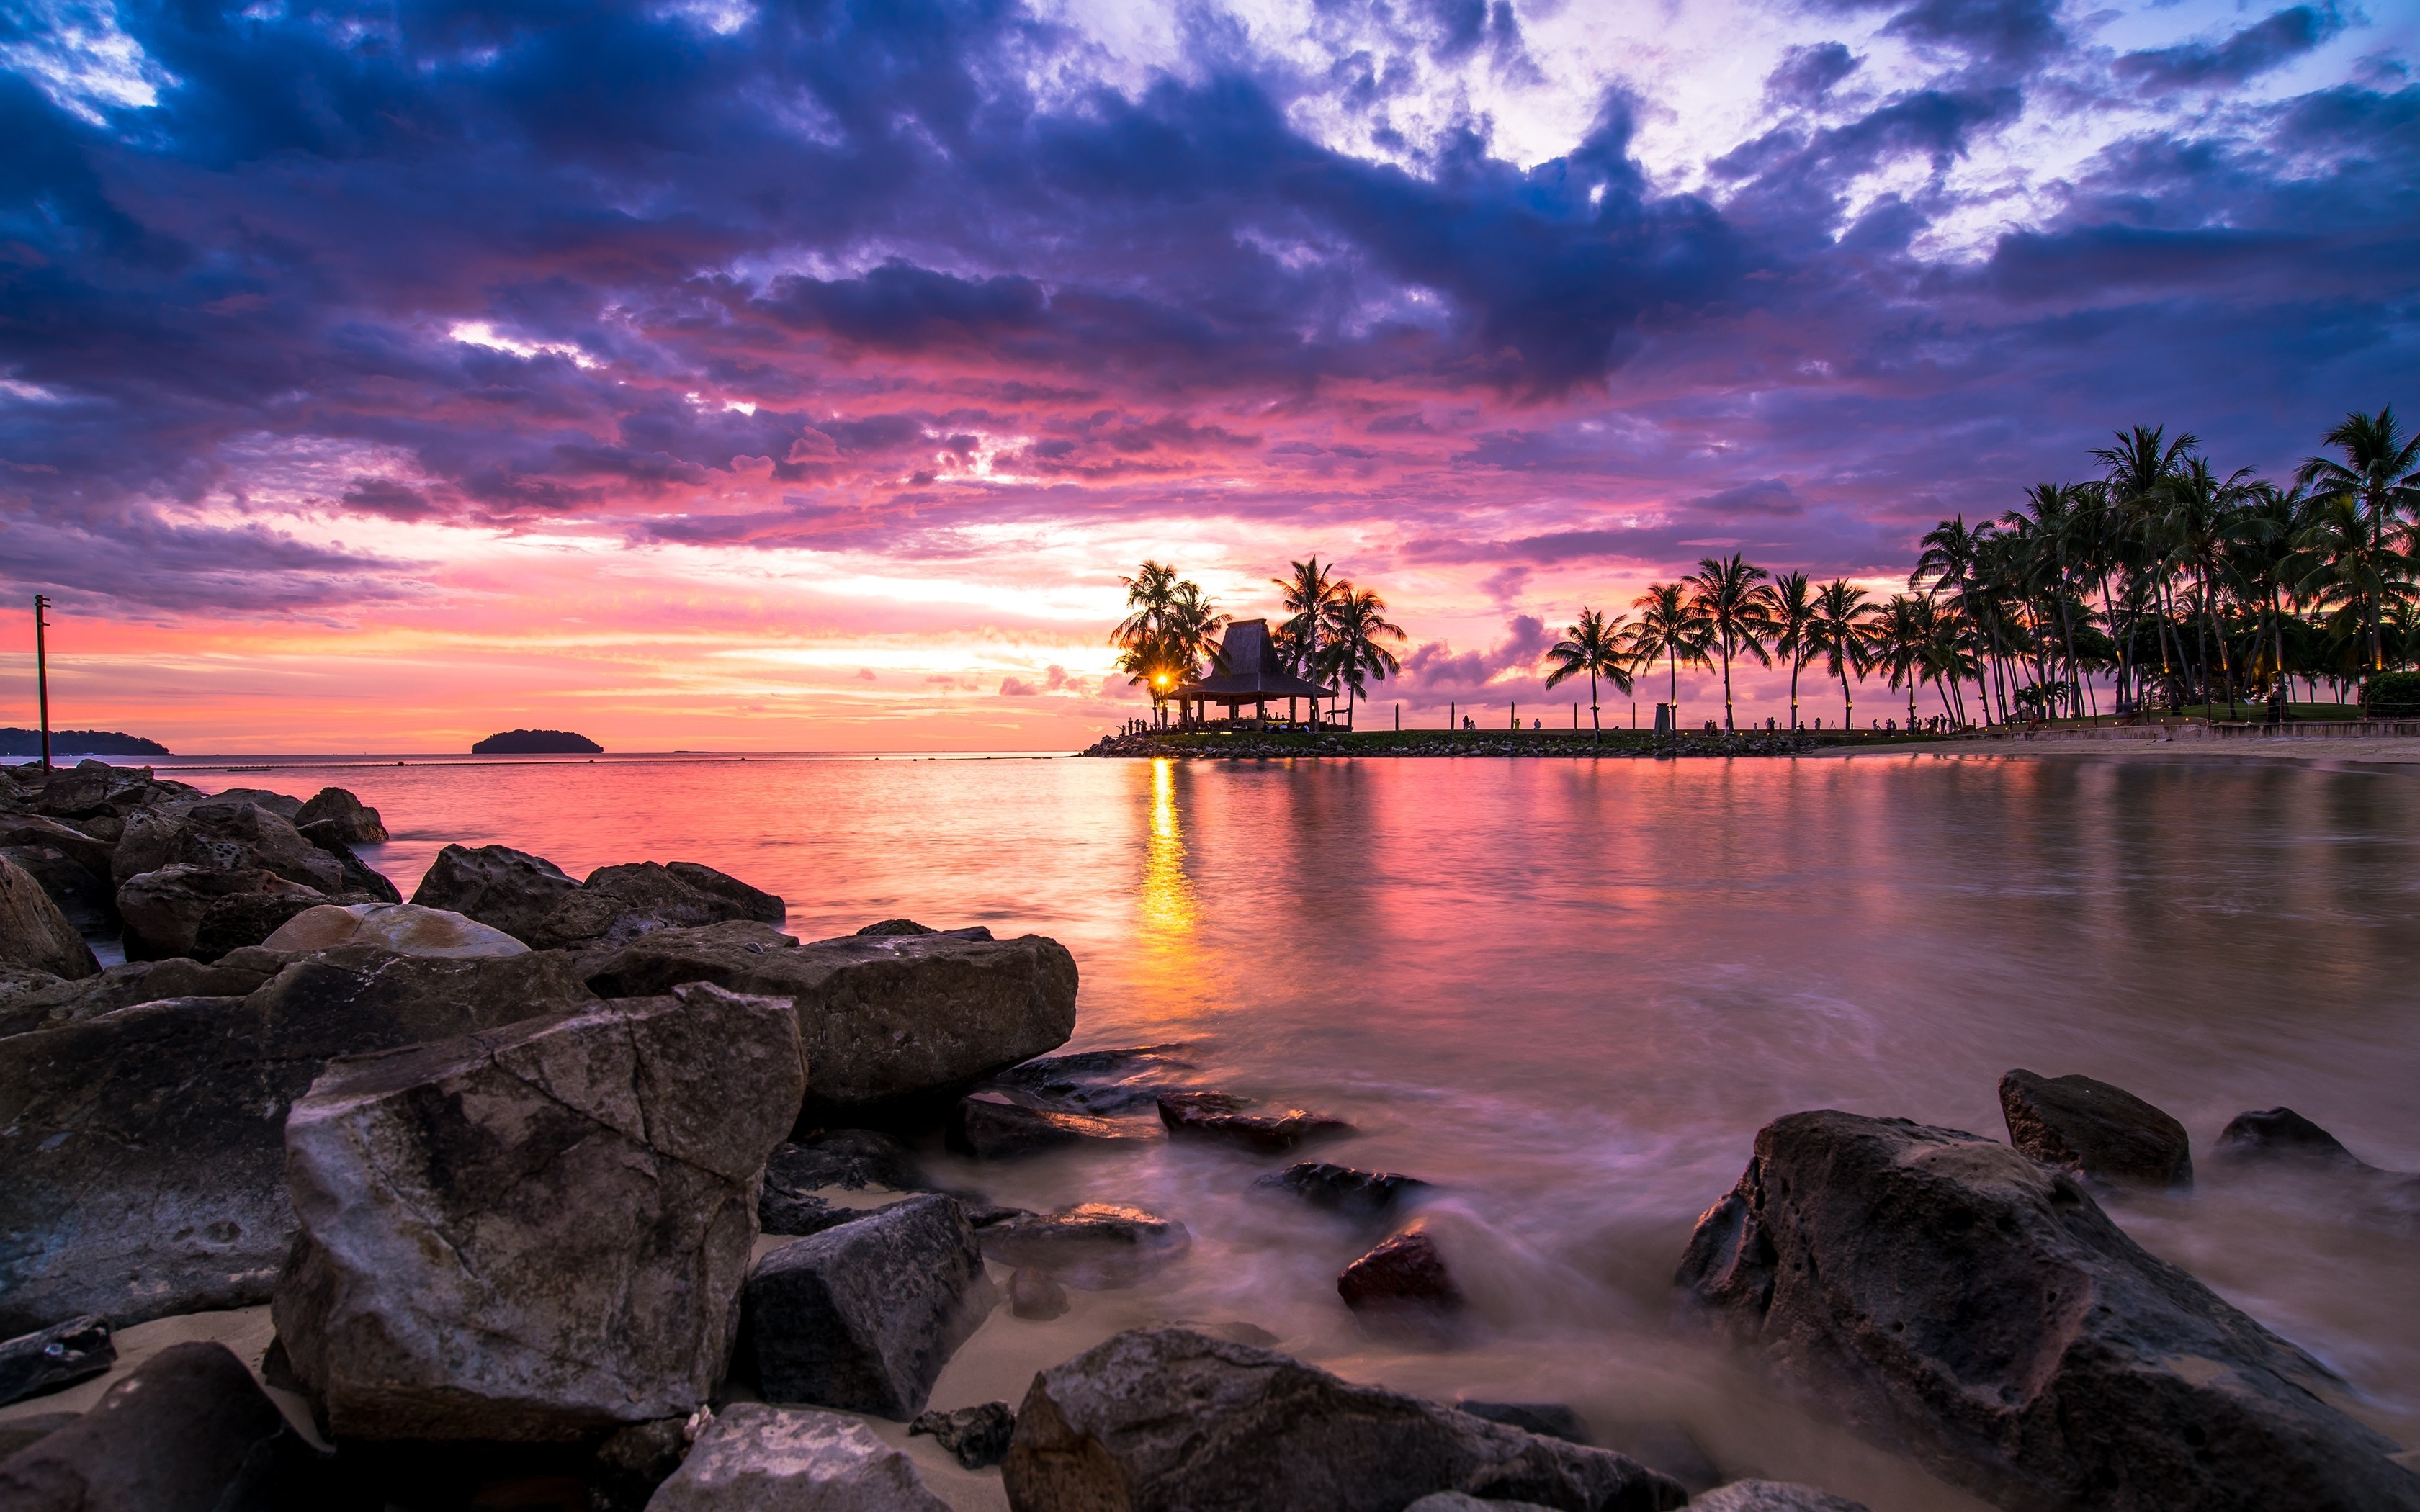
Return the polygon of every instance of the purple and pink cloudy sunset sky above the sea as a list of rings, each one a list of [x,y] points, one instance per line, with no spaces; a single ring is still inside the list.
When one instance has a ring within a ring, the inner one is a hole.
[[[2420,406],[2415,65],[2410,0],[17,0],[0,576],[53,723],[179,752],[1074,748],[1120,573],[1307,554],[1406,629],[1362,719],[1568,721],[1544,646],[1699,556],[1883,593],[2115,428]]]

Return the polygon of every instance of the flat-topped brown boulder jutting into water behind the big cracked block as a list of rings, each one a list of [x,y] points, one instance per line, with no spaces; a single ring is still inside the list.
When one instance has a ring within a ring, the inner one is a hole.
[[[789,997],[811,1067],[806,1120],[864,1123],[956,1098],[1074,1033],[1074,958],[1028,934],[845,936],[794,943],[765,924],[663,929],[603,958],[612,997],[714,982]]]

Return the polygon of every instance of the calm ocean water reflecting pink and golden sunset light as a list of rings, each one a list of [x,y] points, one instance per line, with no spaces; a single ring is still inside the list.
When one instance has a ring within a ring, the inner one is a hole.
[[[1058,1323],[997,1316],[937,1406],[1152,1318],[1256,1323],[1353,1377],[1679,1420],[1725,1473],[1878,1512],[1967,1507],[1767,1393],[1672,1321],[1692,1219],[1757,1125],[1849,1108],[2004,1135],[2011,1067],[2176,1113],[2202,1183],[2120,1222],[2335,1367],[2420,1442],[2420,1265],[2209,1152],[2287,1103],[2420,1171],[2420,779],[2096,760],[1104,762],[666,760],[191,774],[341,784],[409,895],[450,839],[574,876],[695,859],[806,939],[908,914],[1065,941],[1074,1048],[1186,1043],[1205,1081],[1360,1125],[1329,1159],[1447,1188],[1486,1326],[1365,1338],[1367,1241],[1191,1147],[951,1171],[1026,1207],[1125,1200],[1195,1248]]]

